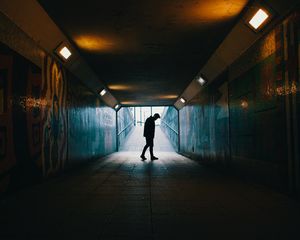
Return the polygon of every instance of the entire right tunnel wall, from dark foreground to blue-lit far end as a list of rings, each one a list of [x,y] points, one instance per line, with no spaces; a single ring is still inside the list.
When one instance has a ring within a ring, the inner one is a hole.
[[[299,152],[294,131],[299,33],[299,13],[293,13],[180,110],[183,154],[284,191],[290,188],[297,177],[292,171],[298,171],[291,165]]]

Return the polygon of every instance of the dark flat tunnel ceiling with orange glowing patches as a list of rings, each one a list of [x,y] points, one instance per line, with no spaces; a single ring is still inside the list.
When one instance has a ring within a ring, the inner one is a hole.
[[[173,104],[248,0],[39,0],[111,93]]]

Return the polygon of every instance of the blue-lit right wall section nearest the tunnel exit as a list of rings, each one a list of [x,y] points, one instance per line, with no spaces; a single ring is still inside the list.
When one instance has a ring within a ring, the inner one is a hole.
[[[228,164],[229,114],[227,75],[196,96],[179,112],[180,151],[210,164]]]

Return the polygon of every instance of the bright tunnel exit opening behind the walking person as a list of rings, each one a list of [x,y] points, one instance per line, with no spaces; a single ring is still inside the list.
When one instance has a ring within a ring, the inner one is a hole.
[[[178,111],[173,106],[122,107],[117,113],[118,150],[131,152],[140,157],[146,144],[144,126],[147,118],[155,113],[160,115],[155,121],[153,152],[159,158],[160,152],[178,151]],[[149,149],[146,158],[150,159]]]

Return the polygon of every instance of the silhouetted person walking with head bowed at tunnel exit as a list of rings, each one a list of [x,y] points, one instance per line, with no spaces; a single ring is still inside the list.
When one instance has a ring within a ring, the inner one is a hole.
[[[153,139],[154,139],[154,133],[155,133],[155,121],[160,118],[158,113],[155,113],[152,116],[148,117],[145,122],[144,126],[144,137],[146,138],[146,145],[143,149],[141,158],[142,160],[146,160],[145,152],[147,148],[149,147],[151,160],[157,160],[158,158],[153,155]]]

